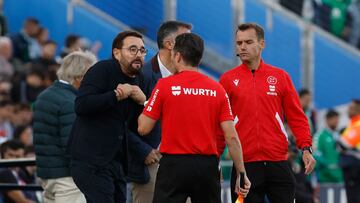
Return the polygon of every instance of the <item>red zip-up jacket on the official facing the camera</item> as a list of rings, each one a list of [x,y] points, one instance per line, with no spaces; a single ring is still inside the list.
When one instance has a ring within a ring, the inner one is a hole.
[[[310,129],[299,97],[284,70],[261,61],[252,72],[241,64],[224,73],[220,83],[231,103],[245,162],[287,160],[284,116],[302,149],[311,146]],[[237,119],[236,119],[237,118]]]

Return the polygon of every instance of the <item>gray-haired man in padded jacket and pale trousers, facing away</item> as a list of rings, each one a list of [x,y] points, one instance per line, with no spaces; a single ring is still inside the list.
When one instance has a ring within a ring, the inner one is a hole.
[[[66,146],[75,121],[77,89],[87,70],[96,62],[90,52],[66,56],[57,72],[58,80],[44,90],[34,105],[34,146],[38,176],[44,199],[49,202],[86,202],[70,175]]]

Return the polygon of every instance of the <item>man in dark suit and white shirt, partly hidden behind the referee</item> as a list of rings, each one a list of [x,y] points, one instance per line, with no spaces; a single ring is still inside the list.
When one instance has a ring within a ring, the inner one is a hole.
[[[171,64],[171,50],[175,38],[179,34],[190,32],[192,26],[180,21],[164,22],[157,33],[159,52],[148,61],[142,71],[144,74],[144,93],[149,98],[153,88],[160,78],[172,75],[175,72]],[[137,137],[138,144],[129,146],[129,176],[133,182],[133,203],[152,202],[155,179],[160,160],[158,147],[160,144],[160,124],[147,137]]]

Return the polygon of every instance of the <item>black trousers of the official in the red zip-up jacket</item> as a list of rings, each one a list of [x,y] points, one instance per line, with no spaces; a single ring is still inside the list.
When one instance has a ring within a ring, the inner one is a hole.
[[[288,161],[259,161],[245,163],[246,174],[251,182],[245,203],[264,203],[265,195],[271,203],[293,203],[295,177]],[[231,173],[231,200],[236,201],[236,169]]]

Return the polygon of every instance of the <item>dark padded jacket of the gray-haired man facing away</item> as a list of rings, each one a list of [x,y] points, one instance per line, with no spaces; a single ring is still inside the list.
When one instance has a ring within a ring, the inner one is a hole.
[[[65,149],[75,120],[76,92],[70,84],[55,81],[34,104],[34,146],[41,178],[70,176],[70,159]]]

